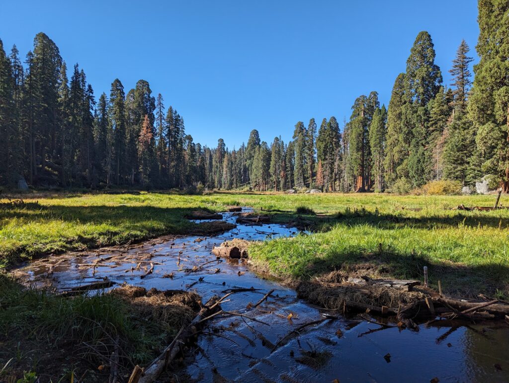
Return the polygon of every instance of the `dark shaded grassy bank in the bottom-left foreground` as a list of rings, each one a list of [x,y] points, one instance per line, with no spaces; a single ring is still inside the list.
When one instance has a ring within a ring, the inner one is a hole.
[[[0,273],[2,367],[12,358],[4,376],[0,373],[0,381],[19,376],[23,370],[64,376],[66,368],[74,367],[81,375],[91,365],[94,371],[115,350],[116,342],[123,358],[144,364],[178,330],[171,324],[170,328],[169,323],[135,316],[129,303],[114,294],[59,297],[25,288]],[[121,362],[127,371],[132,368],[125,360]],[[63,381],[69,380],[67,376]]]

